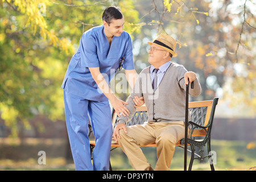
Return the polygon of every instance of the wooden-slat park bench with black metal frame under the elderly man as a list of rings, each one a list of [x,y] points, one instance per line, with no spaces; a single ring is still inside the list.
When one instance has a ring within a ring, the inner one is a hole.
[[[193,160],[199,159],[203,160],[204,158],[208,158],[210,162],[210,168],[214,171],[212,155],[210,155],[210,133],[212,130],[214,111],[218,102],[218,98],[214,98],[212,101],[199,101],[199,102],[189,102],[188,108],[189,113],[191,115],[191,121],[188,122],[188,125],[191,127],[191,133],[188,137],[188,145],[191,146],[191,160],[189,163],[188,170],[192,169]],[[184,112],[185,114],[185,112]],[[117,113],[113,112],[112,115],[112,125],[113,130],[117,125],[118,116]],[[126,126],[131,125],[141,125],[147,121],[147,108],[146,106],[138,107],[136,112],[134,113],[131,120],[127,123]],[[89,126],[89,135],[92,133],[92,129]],[[200,139],[198,139],[200,137]],[[201,139],[203,137],[203,139]],[[207,144],[208,154],[207,156],[203,155],[203,147]],[[182,147],[184,146],[184,139],[181,139],[176,143],[176,146]],[[95,141],[90,141],[90,154],[92,156],[93,148],[95,147]],[[119,147],[119,144],[116,142],[112,142],[111,147],[114,148]],[[148,144],[143,147],[156,147],[155,143]],[[195,147],[200,148],[200,154],[195,154]],[[196,157],[195,157],[196,155]],[[93,159],[92,159],[93,160]],[[110,165],[110,170],[112,167]]]

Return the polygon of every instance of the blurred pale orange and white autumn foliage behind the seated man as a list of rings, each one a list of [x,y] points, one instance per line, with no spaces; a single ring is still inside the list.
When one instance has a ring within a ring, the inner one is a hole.
[[[172,61],[200,78],[202,93],[192,101],[217,96],[223,114],[230,107],[236,117],[255,118],[255,2],[141,0],[135,7],[144,22],[134,38],[138,70],[148,65],[147,41],[171,35],[178,43]]]

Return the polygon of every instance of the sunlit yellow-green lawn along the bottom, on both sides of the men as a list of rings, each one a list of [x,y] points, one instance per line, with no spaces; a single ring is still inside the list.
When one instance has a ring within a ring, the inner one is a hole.
[[[256,148],[246,148],[249,142],[244,141],[228,141],[228,140],[212,140],[212,150],[216,151],[217,163],[214,164],[216,170],[219,171],[237,171],[246,170],[250,167],[256,166]],[[53,143],[54,144],[54,143]],[[56,146],[55,146],[56,147]],[[1,147],[1,150],[3,148]],[[190,149],[190,147],[188,147]],[[60,150],[62,150],[60,148]],[[156,148],[145,147],[142,148],[148,162],[151,163],[152,167],[155,167],[156,163]],[[27,151],[29,152],[29,151]],[[60,155],[61,152],[59,152]],[[47,156],[46,164],[38,164],[39,156],[31,156],[31,158],[19,160],[17,159],[0,159],[0,170],[75,170],[75,166],[72,160],[66,160],[63,156],[50,157]],[[189,164],[190,154],[188,152]],[[121,148],[116,148],[111,152],[110,161],[113,170],[133,170],[130,163],[123,153]],[[183,148],[176,147],[174,158],[170,169],[174,171],[182,171],[184,169],[184,150]],[[194,161],[192,170],[208,171],[210,170],[207,159],[203,162],[198,160]]]

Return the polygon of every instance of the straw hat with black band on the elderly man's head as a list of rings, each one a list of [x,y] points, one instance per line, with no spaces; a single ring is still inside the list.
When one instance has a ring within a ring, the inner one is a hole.
[[[175,48],[176,48],[176,41],[174,40],[174,38],[172,38],[169,35],[166,34],[160,34],[155,40],[154,42],[147,42],[150,46],[152,44],[155,44],[157,46],[160,46],[164,49],[166,49],[166,51],[170,52],[172,54],[172,57],[176,57],[177,53],[174,52]]]

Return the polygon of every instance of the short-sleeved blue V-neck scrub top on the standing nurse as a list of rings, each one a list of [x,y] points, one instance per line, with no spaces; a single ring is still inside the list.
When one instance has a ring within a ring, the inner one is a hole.
[[[114,73],[117,72],[119,60],[122,57],[125,57],[123,68],[134,69],[132,50],[131,38],[127,32],[123,31],[120,36],[114,36],[109,46],[104,26],[91,28],[82,34],[79,48],[68,65],[61,87],[66,93],[87,100],[108,101],[108,98],[98,89],[89,68],[99,67],[109,84]]]

